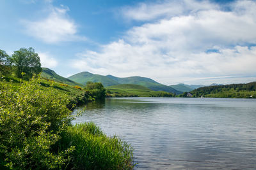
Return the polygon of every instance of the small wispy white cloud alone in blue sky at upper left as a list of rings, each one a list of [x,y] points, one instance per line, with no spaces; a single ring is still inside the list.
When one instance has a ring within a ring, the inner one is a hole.
[[[77,35],[77,25],[74,20],[68,17],[67,11],[69,11],[67,7],[56,8],[50,5],[50,12],[46,18],[22,22],[28,35],[46,43],[86,40],[84,36]]]

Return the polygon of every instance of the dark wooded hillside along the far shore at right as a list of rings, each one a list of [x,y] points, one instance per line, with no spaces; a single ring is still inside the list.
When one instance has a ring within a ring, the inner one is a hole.
[[[246,84],[200,87],[190,93],[194,97],[256,98],[256,81]]]

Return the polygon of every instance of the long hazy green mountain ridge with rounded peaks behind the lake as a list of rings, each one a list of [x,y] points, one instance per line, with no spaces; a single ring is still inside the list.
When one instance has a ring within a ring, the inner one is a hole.
[[[150,78],[140,77],[140,76],[131,76],[127,78],[118,78],[116,76],[102,76],[99,74],[92,74],[89,72],[81,72],[78,74],[74,74],[73,76],[68,77],[68,79],[76,81],[85,85],[87,81],[93,82],[101,82],[104,87],[108,87],[111,85],[118,85],[118,84],[134,84],[134,85],[143,85],[148,89],[154,91],[165,91],[165,92],[172,92],[175,94],[181,94],[178,90],[173,89],[172,87],[168,87],[167,85],[163,85],[161,83],[157,83]]]

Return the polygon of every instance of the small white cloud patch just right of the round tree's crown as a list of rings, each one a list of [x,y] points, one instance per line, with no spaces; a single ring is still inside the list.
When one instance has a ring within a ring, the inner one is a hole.
[[[49,53],[38,53],[42,67],[54,68],[58,65],[58,61],[54,59]]]

